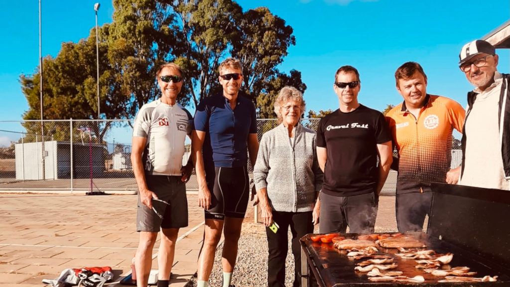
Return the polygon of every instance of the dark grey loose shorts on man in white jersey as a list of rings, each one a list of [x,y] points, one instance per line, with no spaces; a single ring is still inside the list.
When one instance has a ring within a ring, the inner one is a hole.
[[[147,187],[159,199],[169,203],[160,218],[154,210],[140,201],[136,213],[136,231],[159,232],[161,228],[181,228],[188,226],[188,200],[186,184],[181,176],[145,175]]]

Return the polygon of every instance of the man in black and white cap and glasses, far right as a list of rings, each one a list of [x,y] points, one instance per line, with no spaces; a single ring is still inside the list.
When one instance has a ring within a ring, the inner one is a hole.
[[[510,75],[497,71],[498,55],[487,41],[465,44],[459,58],[459,67],[475,86],[468,92],[459,183],[508,190]]]

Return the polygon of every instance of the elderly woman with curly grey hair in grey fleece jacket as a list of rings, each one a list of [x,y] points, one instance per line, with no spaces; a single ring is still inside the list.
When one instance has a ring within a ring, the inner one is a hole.
[[[323,174],[317,161],[315,132],[299,123],[304,108],[303,96],[296,88],[287,86],[278,93],[274,112],[280,124],[262,136],[253,167],[266,225],[269,287],[285,287],[289,227],[295,261],[294,287],[301,286],[299,238],[313,233],[313,224],[318,223],[314,205]],[[276,231],[270,228],[273,223],[279,226]]]

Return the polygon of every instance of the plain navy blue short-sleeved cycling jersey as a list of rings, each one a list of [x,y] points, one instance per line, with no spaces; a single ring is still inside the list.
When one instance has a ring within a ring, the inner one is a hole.
[[[202,147],[206,165],[232,168],[247,164],[248,134],[257,133],[255,106],[239,95],[237,105],[231,109],[222,94],[203,99],[195,112],[194,129],[206,132]]]

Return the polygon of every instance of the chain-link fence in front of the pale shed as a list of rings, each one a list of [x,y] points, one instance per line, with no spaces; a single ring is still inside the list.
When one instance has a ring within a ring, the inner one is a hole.
[[[316,130],[318,119],[301,123]],[[42,124],[0,121],[0,190],[137,189],[131,165],[132,121],[71,119]],[[277,125],[275,119],[259,119],[259,139]],[[187,139],[184,163],[189,155]]]

